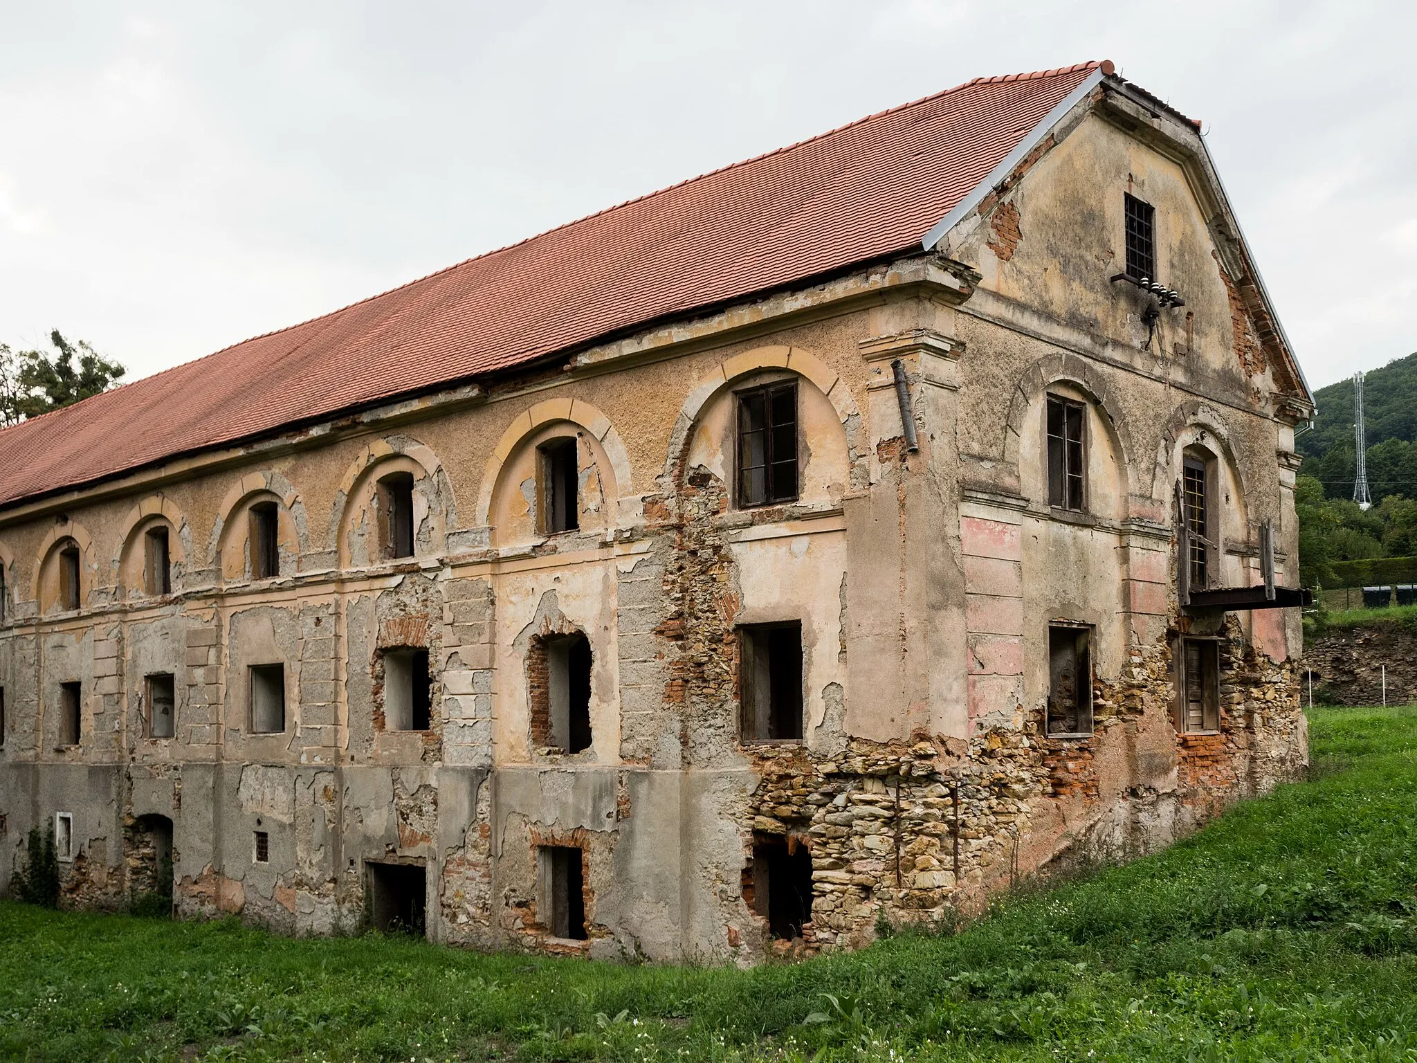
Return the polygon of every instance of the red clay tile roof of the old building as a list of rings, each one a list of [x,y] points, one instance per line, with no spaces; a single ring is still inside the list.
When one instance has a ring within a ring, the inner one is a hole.
[[[918,249],[1098,65],[976,78],[0,431],[0,506]]]

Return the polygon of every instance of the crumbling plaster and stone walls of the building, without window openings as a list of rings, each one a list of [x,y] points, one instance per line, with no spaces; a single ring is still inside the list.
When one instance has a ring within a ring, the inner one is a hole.
[[[0,750],[0,863],[33,821],[78,804],[75,903],[119,903],[125,823],[169,809],[184,913],[353,927],[364,865],[400,860],[428,872],[436,940],[752,962],[862,944],[880,916],[978,904],[1051,862],[1144,852],[1292,774],[1306,747],[1282,625],[1224,621],[1219,734],[1178,737],[1168,719],[1172,639],[1221,624],[1176,609],[1180,448],[1199,431],[1226,442],[1238,502],[1223,564],[1243,583],[1265,516],[1285,522],[1294,564],[1275,468],[1292,435],[1254,351],[1236,353],[1248,333],[1183,174],[1153,154],[1088,119],[999,197],[1000,224],[986,210],[951,238],[973,275],[930,265],[949,278],[615,371],[587,357],[446,408],[410,404],[387,434],[344,425],[254,446],[235,469],[174,468],[162,512],[186,529],[184,570],[169,600],[116,611],[130,568],[106,561],[78,615],[26,590],[43,583],[45,544],[75,527],[95,557],[118,556],[146,486],[69,506],[60,532],[50,513],[0,519],[17,597],[0,675],[17,687],[11,717],[34,706]],[[1180,351],[1175,323],[1165,349],[1144,350],[1134,292],[1105,281],[1127,174],[1168,215],[1163,279],[1195,315]],[[803,495],[737,510],[733,388],[785,376],[802,395]],[[1041,493],[1050,387],[1090,404],[1083,520]],[[547,536],[536,446],[564,434],[578,441],[581,526]],[[385,471],[415,476],[414,558],[370,551]],[[278,578],[251,584],[256,497],[281,503],[283,554]],[[1041,734],[1060,617],[1098,631],[1090,738]],[[737,626],[777,619],[803,622],[806,738],[745,746]],[[526,648],[572,629],[594,648],[592,746],[567,755],[531,741]],[[432,660],[432,726],[390,733],[381,652],[410,645]],[[247,668],[275,660],[286,730],[252,736]],[[164,662],[179,737],[149,743],[140,676]],[[74,668],[105,689],[92,744],[55,751],[38,706]],[[812,855],[813,920],[795,945],[769,940],[743,892],[755,839],[774,836]],[[585,853],[584,944],[550,940],[538,845]]]

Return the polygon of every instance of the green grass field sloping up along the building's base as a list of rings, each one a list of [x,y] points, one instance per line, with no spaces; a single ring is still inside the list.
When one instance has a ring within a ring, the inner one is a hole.
[[[1314,781],[1166,853],[748,972],[4,903],[0,1056],[1417,1060],[1417,709],[1312,740]]]

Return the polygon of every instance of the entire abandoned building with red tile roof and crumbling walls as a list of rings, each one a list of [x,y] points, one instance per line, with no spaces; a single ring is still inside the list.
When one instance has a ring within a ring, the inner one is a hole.
[[[754,962],[1306,763],[1199,125],[982,78],[0,432],[0,886]]]

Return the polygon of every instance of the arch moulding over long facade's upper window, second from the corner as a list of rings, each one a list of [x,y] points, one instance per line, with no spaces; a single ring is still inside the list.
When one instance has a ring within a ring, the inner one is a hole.
[[[504,530],[499,533],[495,526],[495,506],[506,492],[519,490],[517,483],[509,482],[509,466],[517,463],[526,446],[534,445],[557,425],[565,427],[565,435],[578,435],[595,455],[606,510],[604,514],[606,529],[625,527],[638,520],[639,499],[631,493],[633,473],[629,452],[615,425],[605,414],[580,398],[548,398],[519,414],[507,425],[483,469],[473,523],[476,527],[490,529],[493,541],[506,536]]]

